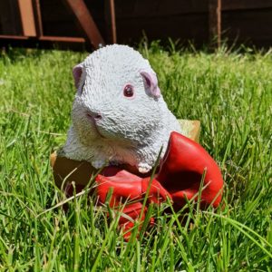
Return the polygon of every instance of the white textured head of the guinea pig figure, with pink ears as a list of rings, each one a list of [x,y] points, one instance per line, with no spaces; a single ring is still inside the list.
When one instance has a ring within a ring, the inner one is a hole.
[[[73,127],[83,144],[146,144],[160,124],[164,102],[156,73],[140,53],[126,45],[105,46],[76,65],[73,77]]]

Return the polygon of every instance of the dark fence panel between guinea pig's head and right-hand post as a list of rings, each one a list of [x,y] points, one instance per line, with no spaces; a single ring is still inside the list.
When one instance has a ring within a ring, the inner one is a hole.
[[[209,42],[208,0],[116,0],[119,43],[179,39],[181,43]]]

